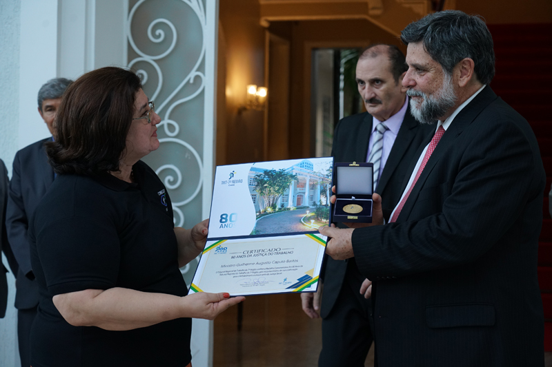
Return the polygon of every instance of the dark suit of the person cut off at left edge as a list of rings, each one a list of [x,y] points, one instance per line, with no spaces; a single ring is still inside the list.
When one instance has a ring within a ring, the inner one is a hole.
[[[8,303],[8,281],[6,273],[8,269],[2,264],[1,254],[4,253],[10,264],[13,273],[17,273],[17,262],[8,243],[6,233],[6,205],[8,203],[8,170],[0,159],[0,318],[6,315],[6,304]]]

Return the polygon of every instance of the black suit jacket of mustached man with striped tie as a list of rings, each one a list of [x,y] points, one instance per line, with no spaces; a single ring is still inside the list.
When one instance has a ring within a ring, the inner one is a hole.
[[[368,112],[348,116],[337,124],[333,136],[332,155],[335,162],[366,162],[368,142],[372,132],[373,117]],[[406,170],[426,136],[435,130],[435,125],[420,125],[410,113],[410,106],[389,153],[375,192],[382,196],[382,206],[386,219],[399,202],[406,185]],[[333,260],[326,256],[324,269],[324,295],[322,296],[322,317],[333,308],[344,281],[347,262]],[[351,266],[351,265],[349,265]],[[355,267],[354,265],[352,265]],[[356,270],[356,269],[355,269]],[[327,274],[327,275],[326,275]]]

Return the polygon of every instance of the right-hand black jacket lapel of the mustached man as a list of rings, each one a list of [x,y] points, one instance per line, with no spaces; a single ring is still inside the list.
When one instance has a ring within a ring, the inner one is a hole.
[[[395,143],[393,143],[384,170],[382,171],[382,177],[380,177],[380,181],[377,182],[376,192],[382,193],[384,191],[387,182],[393,175],[397,165],[399,165],[400,161],[403,159],[408,147],[411,145],[418,126],[418,122],[411,115],[410,106],[408,106],[406,114],[404,114],[404,120],[399,129],[399,134],[397,134],[397,138],[395,138]]]

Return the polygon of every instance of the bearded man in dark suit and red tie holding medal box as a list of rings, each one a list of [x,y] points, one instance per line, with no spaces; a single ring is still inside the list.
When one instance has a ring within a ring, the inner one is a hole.
[[[374,195],[371,226],[320,228],[326,252],[373,280],[377,366],[543,366],[546,177],[531,127],[489,87],[491,33],[449,10],[401,39],[411,110],[435,134],[388,224]]]

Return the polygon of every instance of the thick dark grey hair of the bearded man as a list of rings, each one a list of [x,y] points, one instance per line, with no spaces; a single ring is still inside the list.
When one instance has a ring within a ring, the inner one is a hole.
[[[495,76],[493,37],[478,16],[460,10],[428,14],[406,25],[401,40],[405,45],[422,41],[424,50],[449,75],[457,63],[469,58],[475,63],[475,76],[481,83],[489,84]]]

